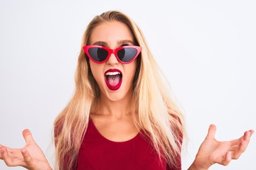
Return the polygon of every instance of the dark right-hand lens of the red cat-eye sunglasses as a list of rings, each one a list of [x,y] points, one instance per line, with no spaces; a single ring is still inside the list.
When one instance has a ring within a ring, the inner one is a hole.
[[[123,48],[117,51],[117,56],[122,62],[130,62],[137,55],[137,50],[135,48]]]

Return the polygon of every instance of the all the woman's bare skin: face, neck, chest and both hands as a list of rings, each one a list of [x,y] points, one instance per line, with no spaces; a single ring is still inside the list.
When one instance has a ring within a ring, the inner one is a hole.
[[[132,33],[127,26],[118,22],[97,26],[90,37],[91,45],[105,45],[110,48],[132,45],[125,44],[124,41],[125,43],[133,42]],[[121,64],[114,55],[111,55],[103,64],[90,61],[92,74],[100,86],[100,108],[91,114],[91,118],[97,130],[109,140],[116,142],[129,140],[139,132],[135,128],[132,121],[133,113],[129,109],[136,66],[136,60],[129,64]],[[105,71],[112,68],[121,70],[123,75],[122,86],[117,91],[110,91],[104,81]],[[245,152],[254,131],[248,130],[240,138],[224,142],[215,139],[215,132],[215,125],[210,125],[206,139],[198,149],[196,159],[188,168],[189,170],[206,170],[215,163],[228,165],[232,159],[238,159],[242,152]],[[31,132],[23,130],[23,137],[26,145],[21,149],[0,145],[0,159],[3,159],[7,166],[23,166],[31,170],[51,169],[42,150],[33,140]]]

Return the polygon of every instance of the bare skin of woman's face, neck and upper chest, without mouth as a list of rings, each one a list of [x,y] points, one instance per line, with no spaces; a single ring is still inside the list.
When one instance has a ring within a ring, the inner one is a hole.
[[[115,49],[124,45],[134,45],[131,31],[124,23],[117,21],[102,23],[92,30],[90,45],[104,45]],[[97,130],[108,140],[121,142],[132,139],[139,133],[132,120],[132,81],[137,68],[137,60],[129,64],[120,63],[112,54],[107,62],[97,64],[90,60],[92,75],[100,87],[100,107],[91,114]],[[108,89],[105,72],[119,69],[122,85],[117,91]]]

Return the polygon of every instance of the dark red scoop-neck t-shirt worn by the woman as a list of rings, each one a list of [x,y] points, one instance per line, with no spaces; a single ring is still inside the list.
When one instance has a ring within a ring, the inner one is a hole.
[[[181,165],[168,167],[166,159],[160,161],[142,132],[126,142],[113,142],[103,137],[90,120],[78,154],[77,170],[85,169],[180,170]]]

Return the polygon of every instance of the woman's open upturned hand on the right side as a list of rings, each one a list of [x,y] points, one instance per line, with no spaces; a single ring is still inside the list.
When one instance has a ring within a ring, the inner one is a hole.
[[[208,169],[215,163],[226,166],[232,159],[238,159],[242,152],[245,152],[254,131],[248,130],[239,139],[225,142],[215,140],[215,132],[215,125],[210,125],[206,139],[201,144],[190,170]]]

